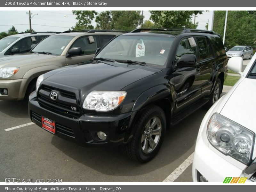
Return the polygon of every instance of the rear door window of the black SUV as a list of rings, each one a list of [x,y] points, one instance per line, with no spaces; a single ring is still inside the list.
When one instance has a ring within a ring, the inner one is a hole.
[[[200,60],[213,57],[211,46],[208,43],[206,37],[196,37],[196,40],[199,49]]]

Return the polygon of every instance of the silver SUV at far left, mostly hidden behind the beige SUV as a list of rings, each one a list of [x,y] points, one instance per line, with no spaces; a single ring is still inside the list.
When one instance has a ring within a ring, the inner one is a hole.
[[[31,50],[31,46],[38,44],[49,35],[60,32],[32,32],[10,35],[0,40],[0,57],[25,53]]]

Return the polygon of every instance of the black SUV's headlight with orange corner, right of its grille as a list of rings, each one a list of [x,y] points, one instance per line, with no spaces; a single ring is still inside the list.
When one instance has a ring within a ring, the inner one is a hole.
[[[126,96],[123,91],[92,91],[83,103],[83,108],[95,111],[111,111],[117,108]]]

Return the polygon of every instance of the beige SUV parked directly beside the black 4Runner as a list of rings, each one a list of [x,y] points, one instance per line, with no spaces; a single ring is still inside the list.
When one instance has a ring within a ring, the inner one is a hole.
[[[37,77],[63,66],[91,60],[112,38],[126,31],[65,31],[48,36],[30,52],[0,58],[0,100],[28,99]],[[67,77],[68,78],[68,77]]]

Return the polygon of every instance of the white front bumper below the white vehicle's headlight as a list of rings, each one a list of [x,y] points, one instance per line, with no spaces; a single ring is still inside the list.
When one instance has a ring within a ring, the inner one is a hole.
[[[245,177],[243,170],[231,164],[205,145],[202,137],[196,142],[192,165],[193,181],[202,175],[208,181],[223,182],[226,177]],[[246,182],[251,181],[249,179]]]

